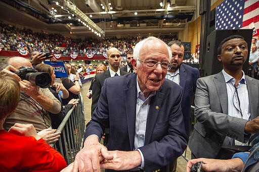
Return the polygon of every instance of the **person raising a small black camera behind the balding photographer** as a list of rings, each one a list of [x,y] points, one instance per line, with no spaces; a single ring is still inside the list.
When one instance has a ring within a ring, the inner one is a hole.
[[[51,55],[50,52],[44,53],[44,52],[32,51],[29,56],[30,56],[30,63],[33,67],[35,67],[37,64],[40,64],[41,62],[47,59],[53,62],[57,61],[54,55]]]

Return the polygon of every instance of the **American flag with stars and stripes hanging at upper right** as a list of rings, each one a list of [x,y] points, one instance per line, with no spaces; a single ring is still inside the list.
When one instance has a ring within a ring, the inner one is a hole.
[[[225,0],[216,8],[215,29],[253,29],[259,35],[259,1]]]

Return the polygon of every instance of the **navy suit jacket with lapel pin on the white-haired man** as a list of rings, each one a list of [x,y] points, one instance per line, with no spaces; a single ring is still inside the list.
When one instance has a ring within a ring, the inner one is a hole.
[[[85,137],[102,137],[110,129],[108,150],[134,150],[137,74],[104,81],[98,106],[87,125]],[[182,88],[165,80],[150,100],[145,146],[140,147],[145,171],[153,171],[176,159],[186,149],[187,138],[181,110]]]

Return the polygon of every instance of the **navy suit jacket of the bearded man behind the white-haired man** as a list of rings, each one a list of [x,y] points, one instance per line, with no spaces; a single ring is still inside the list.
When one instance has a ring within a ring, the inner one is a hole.
[[[182,112],[187,136],[190,134],[191,127],[191,103],[196,89],[196,81],[200,77],[197,68],[182,64],[180,67],[180,85],[183,88]]]

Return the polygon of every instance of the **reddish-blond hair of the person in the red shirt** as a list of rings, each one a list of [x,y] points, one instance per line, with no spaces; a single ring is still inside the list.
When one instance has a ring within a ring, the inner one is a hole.
[[[20,84],[12,76],[0,72],[0,120],[11,114],[20,101]]]

